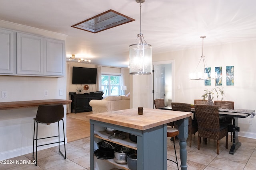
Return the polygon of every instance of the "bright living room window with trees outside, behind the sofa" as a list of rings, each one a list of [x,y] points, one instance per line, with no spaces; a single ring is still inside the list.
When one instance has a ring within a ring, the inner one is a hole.
[[[120,77],[112,75],[101,75],[101,90],[103,96],[119,96],[120,95]]]

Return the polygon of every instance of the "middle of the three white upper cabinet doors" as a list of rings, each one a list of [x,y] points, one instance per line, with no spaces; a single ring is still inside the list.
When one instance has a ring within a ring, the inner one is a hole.
[[[43,38],[17,33],[17,74],[43,74]]]

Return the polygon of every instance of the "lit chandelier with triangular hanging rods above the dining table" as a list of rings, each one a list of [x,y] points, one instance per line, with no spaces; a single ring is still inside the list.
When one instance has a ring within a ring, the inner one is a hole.
[[[189,78],[190,80],[215,80],[216,79],[216,73],[215,72],[211,72],[206,64],[205,58],[204,58],[204,38],[206,38],[206,36],[201,36],[200,38],[202,38],[202,56],[201,59],[199,61],[199,63],[196,66],[196,70],[193,73],[189,74]],[[202,72],[196,72],[197,68],[200,64],[200,62],[203,62],[204,64],[204,74],[202,74]]]

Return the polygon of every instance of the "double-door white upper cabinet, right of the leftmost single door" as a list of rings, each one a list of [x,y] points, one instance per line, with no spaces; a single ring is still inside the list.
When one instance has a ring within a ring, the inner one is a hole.
[[[65,41],[17,33],[17,74],[64,76]]]

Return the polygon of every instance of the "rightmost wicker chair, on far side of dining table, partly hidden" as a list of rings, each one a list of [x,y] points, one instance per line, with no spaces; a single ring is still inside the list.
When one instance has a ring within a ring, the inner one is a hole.
[[[220,109],[232,109],[234,110],[234,102],[232,101],[222,101],[222,100],[215,100],[214,106],[218,106]],[[219,116],[220,123],[224,123],[228,125],[228,132],[230,132],[231,142],[233,141],[233,124],[231,117]]]

